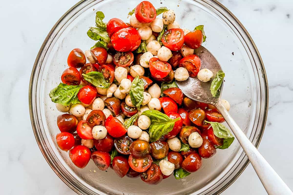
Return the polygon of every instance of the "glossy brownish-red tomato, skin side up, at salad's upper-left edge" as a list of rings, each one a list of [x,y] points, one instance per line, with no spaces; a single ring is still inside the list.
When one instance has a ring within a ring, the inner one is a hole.
[[[85,65],[86,56],[84,55],[84,52],[81,51],[81,49],[79,48],[75,48],[72,51],[70,51],[67,58],[67,64],[69,67],[74,67],[74,68],[80,68],[83,65]]]

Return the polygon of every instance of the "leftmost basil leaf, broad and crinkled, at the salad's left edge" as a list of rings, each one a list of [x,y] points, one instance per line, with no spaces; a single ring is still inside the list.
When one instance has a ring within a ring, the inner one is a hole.
[[[52,89],[49,96],[54,103],[60,103],[64,106],[69,106],[70,103],[81,103],[77,98],[77,93],[82,85],[67,85],[60,83],[57,87]]]

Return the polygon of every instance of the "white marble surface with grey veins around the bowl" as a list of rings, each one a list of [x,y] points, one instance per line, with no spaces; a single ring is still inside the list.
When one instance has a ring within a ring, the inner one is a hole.
[[[259,150],[293,189],[293,1],[222,0],[254,39],[270,88],[267,126]],[[28,84],[38,50],[74,0],[3,1],[0,8],[0,194],[74,194],[43,158],[28,111]],[[272,178],[273,179],[273,178]],[[266,194],[251,165],[223,195]]]

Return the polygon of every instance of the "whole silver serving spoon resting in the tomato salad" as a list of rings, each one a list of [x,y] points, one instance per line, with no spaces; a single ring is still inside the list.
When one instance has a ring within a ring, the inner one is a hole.
[[[208,68],[214,75],[218,70],[222,70],[221,65],[217,59],[203,46],[195,49],[195,54],[200,57],[202,65],[201,68]],[[269,195],[293,195],[293,192],[263,158],[255,146],[249,141],[246,135],[242,132],[231,115],[225,109],[221,102],[221,94],[219,97],[212,97],[210,92],[210,85],[212,81],[202,82],[195,78],[189,77],[186,81],[176,81],[178,87],[182,92],[195,101],[209,103],[214,105],[223,115],[235,137],[238,139],[249,161],[251,162],[256,174],[262,182],[265,190]],[[223,86],[222,86],[223,87]]]

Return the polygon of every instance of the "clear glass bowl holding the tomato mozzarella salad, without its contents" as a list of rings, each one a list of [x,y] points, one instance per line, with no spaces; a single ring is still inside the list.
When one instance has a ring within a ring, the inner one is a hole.
[[[96,11],[105,13],[104,21],[113,17],[129,21],[127,13],[139,2],[80,1],[54,25],[40,48],[30,78],[30,117],[40,150],[60,179],[78,194],[220,194],[249,162],[237,140],[229,149],[218,149],[212,158],[203,159],[200,170],[190,176],[181,180],[171,176],[154,186],[139,178],[120,178],[112,169],[99,171],[92,161],[84,169],[76,168],[68,152],[60,151],[56,145],[56,119],[60,113],[48,94],[59,84],[69,52],[76,47],[85,51],[95,43],[86,32],[95,25]],[[258,146],[268,112],[268,82],[260,54],[243,25],[214,0],[151,2],[156,8],[175,10],[182,28],[193,30],[205,25],[208,38],[203,46],[216,56],[226,73],[222,98],[230,102],[231,115]]]

